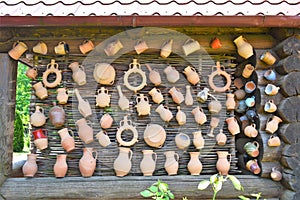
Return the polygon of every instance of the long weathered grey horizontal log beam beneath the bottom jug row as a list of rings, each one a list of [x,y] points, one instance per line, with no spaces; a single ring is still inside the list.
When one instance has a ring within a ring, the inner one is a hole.
[[[176,199],[211,199],[212,190],[200,191],[197,189],[201,180],[208,180],[210,176],[180,176],[176,181],[174,177],[68,177],[55,178],[10,178],[0,189],[7,199],[143,199],[139,192],[160,180],[169,184]],[[263,192],[267,199],[277,198],[282,186],[270,179],[257,176],[237,175],[245,188],[245,192],[233,189],[227,181],[218,193],[218,199],[236,199],[238,195],[250,196],[251,193]],[[262,190],[262,188],[268,188]],[[30,192],[29,192],[30,191]],[[230,191],[230,192],[229,192]]]

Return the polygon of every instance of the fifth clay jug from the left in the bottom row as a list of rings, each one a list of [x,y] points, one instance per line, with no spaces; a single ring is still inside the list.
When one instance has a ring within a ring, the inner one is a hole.
[[[157,155],[153,150],[142,150],[143,152],[143,159],[140,163],[140,168],[144,176],[152,176],[155,165]]]

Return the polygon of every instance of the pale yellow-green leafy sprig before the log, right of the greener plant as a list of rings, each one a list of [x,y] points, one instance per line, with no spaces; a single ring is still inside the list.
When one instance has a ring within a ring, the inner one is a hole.
[[[217,193],[222,189],[223,183],[229,179],[231,183],[233,184],[234,188],[236,190],[241,190],[244,191],[243,186],[241,185],[240,181],[233,175],[227,175],[227,176],[222,176],[220,174],[214,174],[210,177],[209,181],[208,180],[203,180],[199,183],[198,189],[199,190],[205,190],[209,185],[212,186],[212,189],[214,191],[213,194],[213,200],[216,199]]]

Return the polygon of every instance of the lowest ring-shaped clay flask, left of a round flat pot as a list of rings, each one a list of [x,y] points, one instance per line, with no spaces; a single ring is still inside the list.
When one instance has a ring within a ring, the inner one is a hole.
[[[128,142],[122,139],[122,133],[127,130],[133,133],[132,139]],[[120,121],[120,127],[118,128],[116,138],[120,146],[126,146],[126,147],[132,146],[138,141],[138,132],[136,128],[132,126],[132,122],[127,119],[127,116],[124,116],[124,119]]]

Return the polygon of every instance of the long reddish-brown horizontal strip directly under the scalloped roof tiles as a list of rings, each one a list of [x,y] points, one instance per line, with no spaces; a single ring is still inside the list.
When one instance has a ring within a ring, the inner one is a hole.
[[[1,16],[0,27],[215,26],[299,28],[299,16]]]

